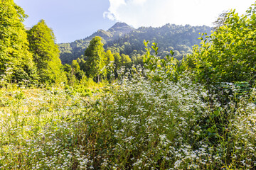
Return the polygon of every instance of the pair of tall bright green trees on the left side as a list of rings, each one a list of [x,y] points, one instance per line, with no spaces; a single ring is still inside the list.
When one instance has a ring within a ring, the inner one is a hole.
[[[13,0],[0,2],[1,84],[4,81],[18,84],[65,81],[53,30],[43,20],[26,30],[23,25],[26,17]]]

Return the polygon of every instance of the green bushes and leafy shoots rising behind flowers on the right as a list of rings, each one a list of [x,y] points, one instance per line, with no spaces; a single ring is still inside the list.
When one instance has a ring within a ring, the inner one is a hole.
[[[174,51],[161,59],[158,44],[153,43],[150,48],[149,42],[144,42],[147,50],[144,67],[159,72],[153,77],[157,81],[178,81],[186,74],[193,81],[206,85],[208,90],[213,86],[223,90],[226,84],[232,84],[246,91],[255,86],[256,78],[255,11],[256,4],[253,4],[241,16],[235,10],[220,14],[215,21],[215,31],[210,35],[201,34],[198,38],[200,45],[195,45],[192,54],[181,61],[173,57]],[[150,49],[155,52],[154,55],[151,55]],[[213,91],[216,92],[216,89]]]

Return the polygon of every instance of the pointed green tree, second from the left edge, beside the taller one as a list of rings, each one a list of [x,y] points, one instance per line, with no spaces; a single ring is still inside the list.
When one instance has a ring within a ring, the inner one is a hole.
[[[41,20],[28,30],[29,50],[33,53],[41,82],[65,81],[65,74],[61,70],[58,45],[55,44],[53,30]]]

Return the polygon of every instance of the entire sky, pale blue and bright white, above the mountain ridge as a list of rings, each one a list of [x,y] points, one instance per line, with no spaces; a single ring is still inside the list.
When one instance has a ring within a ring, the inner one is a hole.
[[[166,23],[213,26],[223,11],[245,13],[255,0],[14,0],[32,27],[41,19],[53,29],[56,42],[73,42],[107,30],[116,22],[134,28]]]

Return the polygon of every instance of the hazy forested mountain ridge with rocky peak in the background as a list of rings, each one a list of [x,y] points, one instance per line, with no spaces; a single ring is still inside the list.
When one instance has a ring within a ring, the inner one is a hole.
[[[97,30],[96,33],[85,39],[59,44],[60,60],[63,64],[70,64],[84,55],[90,40],[95,36],[102,37],[105,49],[129,55],[133,62],[144,55],[144,40],[159,44],[160,57],[164,57],[169,54],[170,50],[174,50],[174,57],[181,60],[183,55],[191,54],[193,45],[200,44],[199,33],[210,34],[211,30],[212,28],[208,26],[177,26],[175,24],[166,24],[158,28],[134,29],[126,23],[115,23],[107,31]]]

